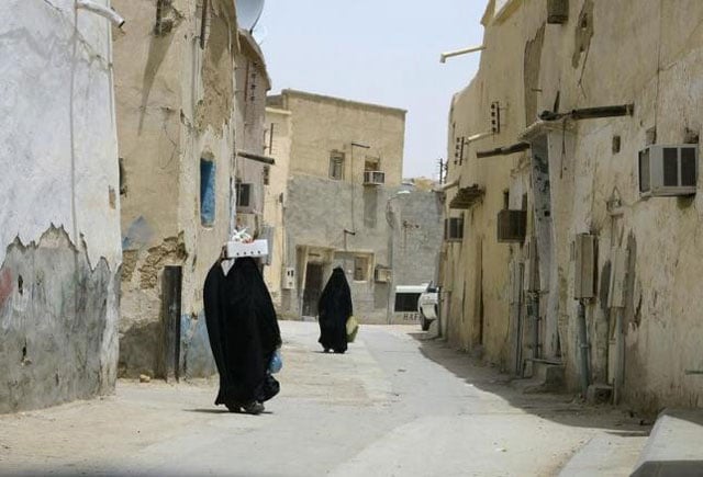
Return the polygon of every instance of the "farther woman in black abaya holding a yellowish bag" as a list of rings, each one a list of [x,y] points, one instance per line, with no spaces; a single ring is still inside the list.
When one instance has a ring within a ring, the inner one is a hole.
[[[320,321],[320,344],[325,353],[333,350],[335,353],[347,351],[347,320],[353,314],[352,291],[344,274],[344,270],[337,266],[332,271],[332,276],[325,285],[317,304]]]

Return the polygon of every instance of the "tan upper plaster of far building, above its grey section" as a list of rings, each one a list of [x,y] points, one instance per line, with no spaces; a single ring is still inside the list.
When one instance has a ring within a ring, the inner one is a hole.
[[[282,91],[292,115],[291,171],[330,177],[330,154],[345,154],[344,180],[360,184],[367,157],[379,158],[386,185],[402,180],[405,111],[293,90]],[[352,147],[352,143],[370,149]]]

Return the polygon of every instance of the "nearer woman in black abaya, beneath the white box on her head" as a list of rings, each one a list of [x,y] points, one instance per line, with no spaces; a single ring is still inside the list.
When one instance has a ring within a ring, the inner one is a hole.
[[[263,402],[280,388],[268,366],[281,334],[256,261],[237,259],[226,275],[216,262],[203,294],[210,347],[220,373],[215,405],[259,413]]]

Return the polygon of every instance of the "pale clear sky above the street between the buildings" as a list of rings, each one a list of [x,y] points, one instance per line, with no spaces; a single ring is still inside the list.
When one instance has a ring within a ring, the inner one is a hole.
[[[274,88],[408,110],[403,177],[437,177],[451,95],[479,54],[487,0],[267,0],[255,29]]]

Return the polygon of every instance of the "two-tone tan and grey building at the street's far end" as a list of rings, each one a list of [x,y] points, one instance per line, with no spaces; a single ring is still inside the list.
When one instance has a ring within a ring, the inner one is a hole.
[[[282,207],[281,262],[267,274],[282,315],[316,316],[320,293],[341,265],[355,315],[388,322],[394,286],[432,281],[440,243],[436,195],[397,196],[413,189],[401,183],[405,112],[293,90],[269,98],[269,105],[279,117],[271,123],[280,124],[274,127],[280,154],[274,156],[289,155],[282,159],[289,163],[286,192],[277,182],[271,194]],[[401,258],[416,266],[403,268]]]

